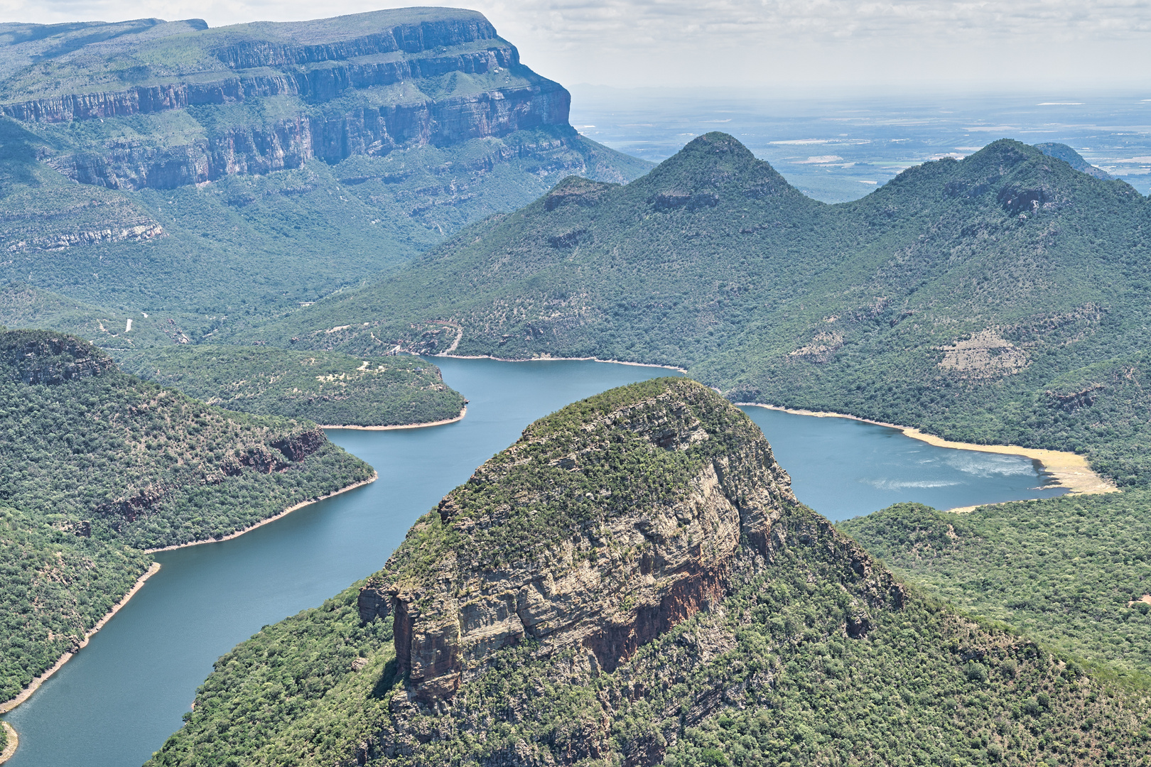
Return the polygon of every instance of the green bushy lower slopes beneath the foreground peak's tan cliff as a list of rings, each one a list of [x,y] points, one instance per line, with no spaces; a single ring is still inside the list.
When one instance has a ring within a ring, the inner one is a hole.
[[[435,742],[367,764],[485,764],[517,743],[580,753],[589,745],[581,738],[603,737],[603,698],[618,706],[604,738],[611,752],[666,749],[669,766],[1145,764],[1145,715],[1074,662],[924,597],[872,613],[868,638],[845,638],[843,591],[821,575],[840,574],[790,553],[724,601],[734,618],[700,614],[586,683],[565,678],[571,653],[501,651],[450,715],[412,723],[437,733]],[[397,680],[391,623],[360,624],[357,591],[221,658],[188,723],[148,766],[323,765],[364,754],[363,744],[388,731]],[[709,644],[716,635],[727,644]],[[630,700],[633,688],[643,696]],[[585,759],[610,764],[607,754]]]

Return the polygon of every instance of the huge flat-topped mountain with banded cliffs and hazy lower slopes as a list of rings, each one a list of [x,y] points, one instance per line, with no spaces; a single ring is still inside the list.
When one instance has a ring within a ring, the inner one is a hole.
[[[314,300],[565,175],[650,167],[570,102],[456,8],[8,24],[0,275],[144,310]]]

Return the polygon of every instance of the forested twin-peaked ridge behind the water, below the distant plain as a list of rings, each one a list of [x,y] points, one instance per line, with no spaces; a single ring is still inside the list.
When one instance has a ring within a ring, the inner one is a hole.
[[[1133,187],[1016,141],[829,206],[709,133],[243,337],[685,366],[735,401],[1073,448],[1143,485],[1149,231]]]

